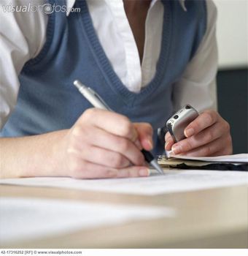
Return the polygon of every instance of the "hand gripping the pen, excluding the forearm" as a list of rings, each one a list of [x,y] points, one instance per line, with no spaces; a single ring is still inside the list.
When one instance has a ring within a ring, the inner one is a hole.
[[[74,178],[148,176],[141,149],[152,149],[150,124],[90,108],[63,137],[64,171]]]

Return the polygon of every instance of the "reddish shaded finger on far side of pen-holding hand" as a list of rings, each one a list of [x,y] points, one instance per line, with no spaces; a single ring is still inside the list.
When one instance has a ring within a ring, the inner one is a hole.
[[[138,132],[138,138],[142,145],[142,148],[148,151],[152,150],[153,148],[152,126],[148,123],[136,123],[133,125],[136,128],[136,131]]]

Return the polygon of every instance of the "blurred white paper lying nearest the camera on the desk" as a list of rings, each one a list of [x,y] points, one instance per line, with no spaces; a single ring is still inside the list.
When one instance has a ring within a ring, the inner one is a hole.
[[[136,219],[175,217],[167,207],[1,197],[0,245]]]

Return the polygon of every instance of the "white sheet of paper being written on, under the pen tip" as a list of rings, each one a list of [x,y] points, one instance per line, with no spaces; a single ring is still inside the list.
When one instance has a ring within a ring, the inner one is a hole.
[[[217,170],[165,170],[165,175],[145,178],[78,180],[73,178],[14,178],[0,184],[115,192],[133,195],[159,195],[216,187],[248,185],[248,173]]]

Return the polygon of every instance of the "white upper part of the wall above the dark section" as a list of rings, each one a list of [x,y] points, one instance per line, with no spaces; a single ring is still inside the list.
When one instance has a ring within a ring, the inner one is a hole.
[[[248,67],[248,0],[214,0],[218,10],[219,66]]]

